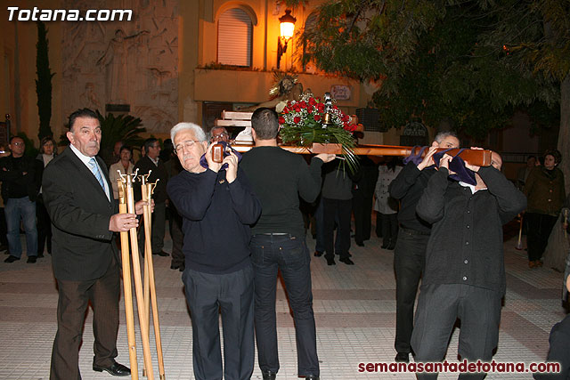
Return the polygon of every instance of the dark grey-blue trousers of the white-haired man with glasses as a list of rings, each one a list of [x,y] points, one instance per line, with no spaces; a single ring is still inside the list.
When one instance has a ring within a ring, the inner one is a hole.
[[[192,359],[197,380],[246,380],[255,361],[253,338],[253,270],[232,273],[183,272],[191,311]],[[224,369],[219,313],[224,334]]]

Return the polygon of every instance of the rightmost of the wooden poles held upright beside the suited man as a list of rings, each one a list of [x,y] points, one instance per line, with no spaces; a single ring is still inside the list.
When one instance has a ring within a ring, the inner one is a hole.
[[[159,180],[157,180],[158,182]],[[147,183],[143,186],[144,192],[147,195],[147,199],[151,201],[151,195],[156,187],[155,183]],[[143,206],[144,209],[144,234],[149,237],[146,239],[146,245],[148,248],[149,257],[147,263],[149,265],[148,273],[149,273],[149,284],[151,287],[151,305],[152,305],[152,322],[154,326],[154,338],[157,345],[157,355],[159,359],[159,375],[160,380],[165,380],[165,371],[164,371],[164,358],[162,356],[162,339],[160,338],[160,321],[159,321],[159,302],[157,300],[157,289],[156,283],[154,280],[154,264],[152,263],[152,250],[151,250],[151,215],[152,210],[150,206]]]

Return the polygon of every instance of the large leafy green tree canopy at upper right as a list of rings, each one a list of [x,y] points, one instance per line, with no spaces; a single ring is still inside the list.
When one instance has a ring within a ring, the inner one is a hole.
[[[328,72],[383,79],[373,101],[390,127],[411,117],[431,126],[451,119],[460,133],[482,140],[508,125],[517,108],[529,109],[534,125],[549,125],[558,120],[558,77],[566,69],[554,46],[564,45],[565,52],[570,46],[569,19],[553,20],[553,13],[565,13],[560,5],[552,12],[550,3],[558,2],[329,1],[303,34],[304,59]],[[567,8],[568,0],[560,3]],[[529,44],[542,41],[537,16],[547,11],[551,34],[562,41]]]

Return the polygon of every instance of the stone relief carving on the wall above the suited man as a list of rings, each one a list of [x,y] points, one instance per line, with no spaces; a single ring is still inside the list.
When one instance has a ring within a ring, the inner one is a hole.
[[[64,23],[64,118],[78,108],[104,114],[105,104],[129,104],[149,132],[168,132],[178,119],[179,1],[120,0],[115,8],[132,9],[131,21]],[[104,0],[63,3],[81,10],[109,8]]]

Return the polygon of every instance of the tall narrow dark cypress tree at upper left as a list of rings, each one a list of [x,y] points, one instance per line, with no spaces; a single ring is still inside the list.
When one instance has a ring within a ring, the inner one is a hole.
[[[48,55],[48,39],[45,23],[37,21],[37,55],[36,55],[36,93],[37,112],[39,115],[39,131],[37,138],[53,135],[50,120],[52,118],[52,77]]]

